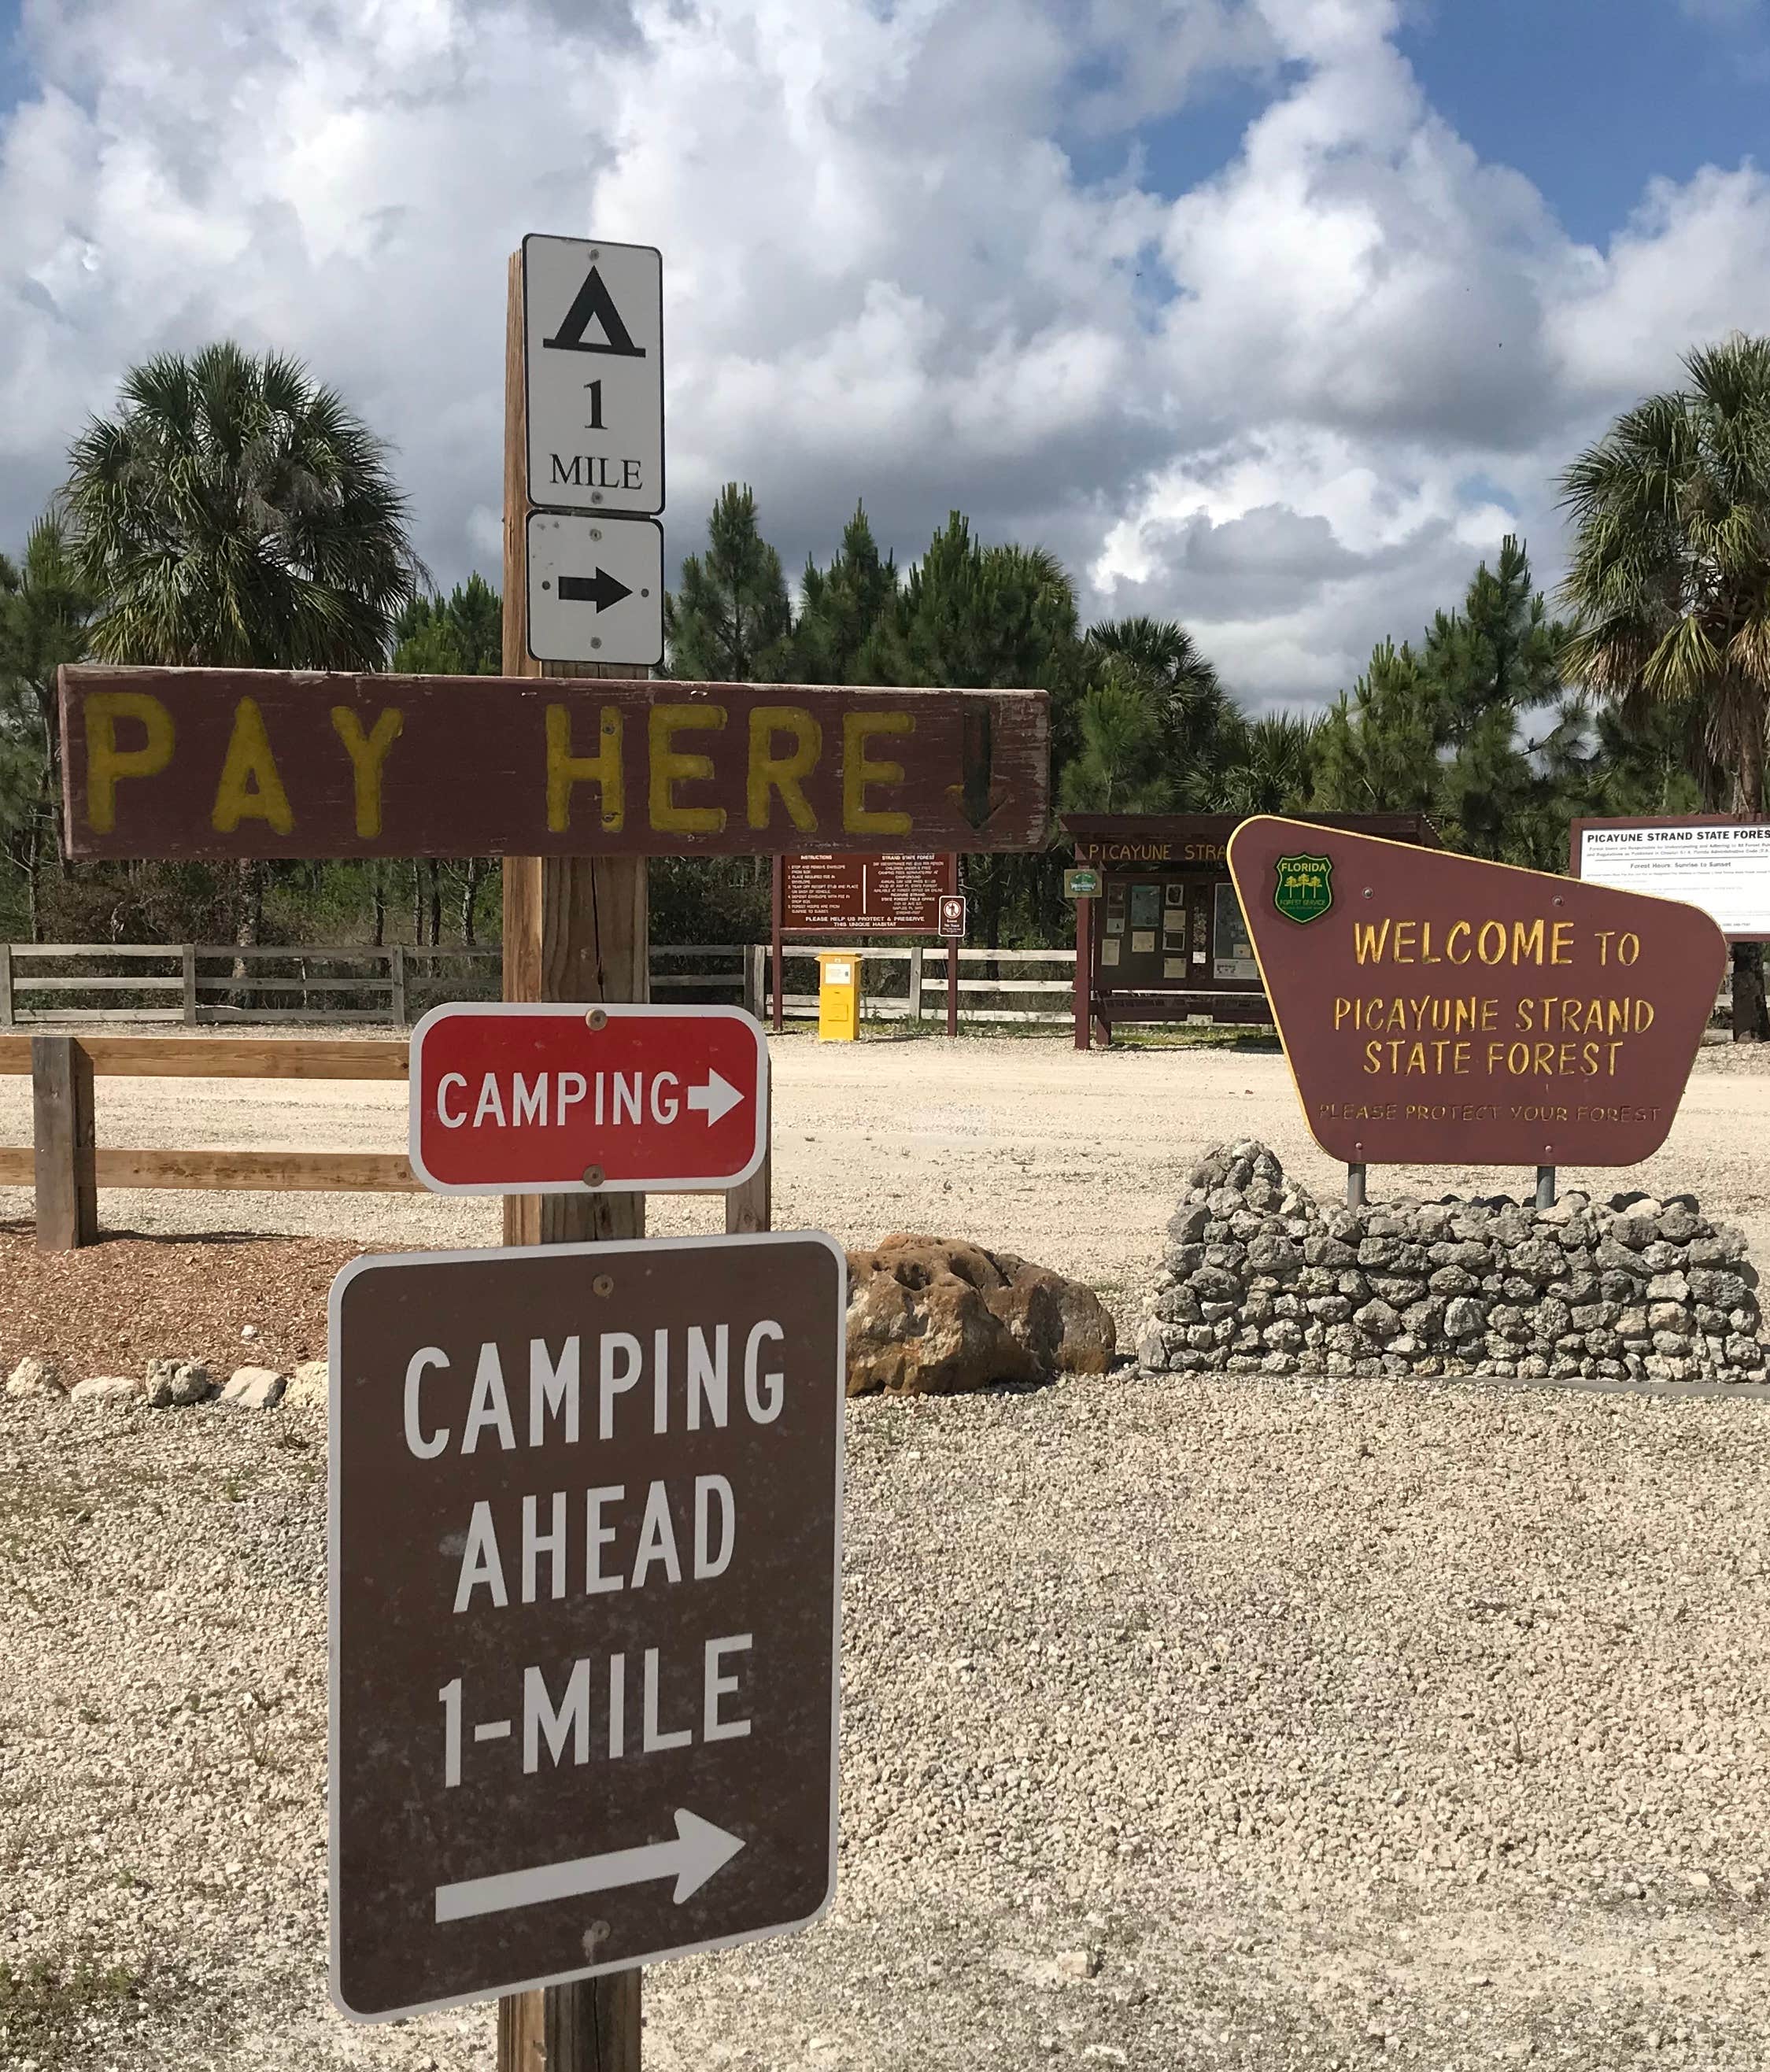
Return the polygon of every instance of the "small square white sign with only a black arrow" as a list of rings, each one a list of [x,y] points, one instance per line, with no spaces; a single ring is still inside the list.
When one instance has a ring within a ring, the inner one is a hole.
[[[529,512],[529,653],[653,669],[663,661],[663,526]]]

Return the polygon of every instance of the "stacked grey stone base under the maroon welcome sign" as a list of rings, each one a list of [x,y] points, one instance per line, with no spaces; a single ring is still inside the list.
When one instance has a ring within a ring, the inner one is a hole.
[[[1167,1227],[1138,1361],[1173,1374],[1762,1382],[1745,1237],[1693,1196],[1320,1206],[1215,1150]]]

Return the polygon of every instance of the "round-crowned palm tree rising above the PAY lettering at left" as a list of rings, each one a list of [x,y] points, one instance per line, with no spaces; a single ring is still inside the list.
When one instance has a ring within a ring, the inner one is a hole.
[[[102,661],[379,669],[423,566],[388,448],[282,354],[131,369],[62,501]]]

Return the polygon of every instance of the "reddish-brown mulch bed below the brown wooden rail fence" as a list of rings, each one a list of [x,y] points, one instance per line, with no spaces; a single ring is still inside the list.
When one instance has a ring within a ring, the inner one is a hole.
[[[0,1376],[27,1353],[58,1359],[64,1380],[145,1374],[160,1355],[220,1376],[325,1359],[325,1291],[361,1251],[323,1237],[106,1237],[37,1251],[29,1222],[0,1225]]]

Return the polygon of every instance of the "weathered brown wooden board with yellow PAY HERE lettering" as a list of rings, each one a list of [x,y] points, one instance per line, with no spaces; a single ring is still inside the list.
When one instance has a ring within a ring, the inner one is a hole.
[[[1043,690],[64,667],[75,856],[1032,850]]]

